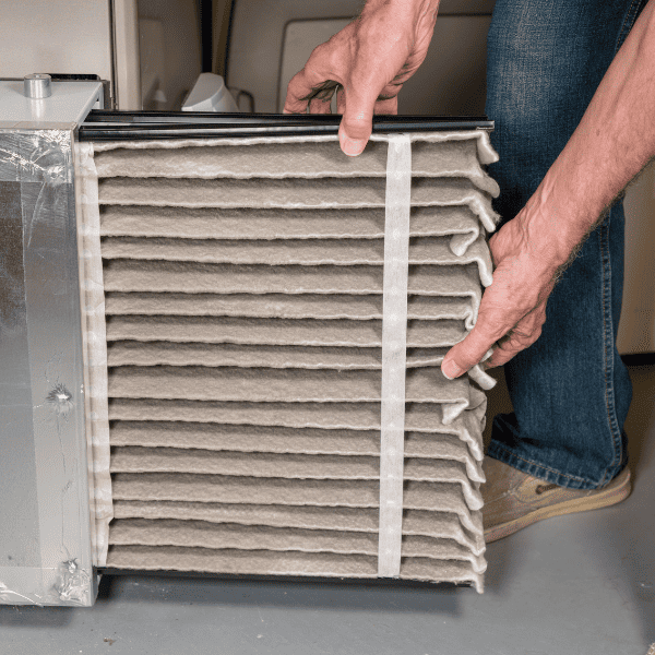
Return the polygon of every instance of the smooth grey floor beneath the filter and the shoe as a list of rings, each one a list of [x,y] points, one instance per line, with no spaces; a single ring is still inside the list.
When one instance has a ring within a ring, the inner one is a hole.
[[[0,654],[646,655],[655,642],[655,366],[630,372],[632,496],[489,545],[481,596],[105,576],[92,608],[0,606]],[[490,414],[510,406],[497,374]]]

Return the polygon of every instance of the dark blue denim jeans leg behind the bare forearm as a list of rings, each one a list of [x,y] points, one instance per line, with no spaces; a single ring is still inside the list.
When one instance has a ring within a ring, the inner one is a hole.
[[[489,167],[501,189],[500,225],[567,144],[645,3],[497,0],[486,112],[500,154]],[[628,461],[632,385],[616,347],[623,225],[619,201],[555,287],[539,340],[505,365],[514,412],[492,425],[491,457],[573,489],[604,487]]]

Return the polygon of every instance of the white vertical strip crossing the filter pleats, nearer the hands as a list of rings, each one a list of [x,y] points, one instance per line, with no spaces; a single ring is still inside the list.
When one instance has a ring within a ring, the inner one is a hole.
[[[412,142],[389,138],[382,301],[378,575],[401,573]]]

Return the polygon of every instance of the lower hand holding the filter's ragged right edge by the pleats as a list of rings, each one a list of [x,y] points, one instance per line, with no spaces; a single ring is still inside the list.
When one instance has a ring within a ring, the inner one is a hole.
[[[535,248],[523,217],[519,214],[489,240],[493,283],[485,289],[474,329],[443,359],[441,370],[448,378],[478,364],[495,344],[485,365],[502,366],[541,334],[558,266],[552,254]]]

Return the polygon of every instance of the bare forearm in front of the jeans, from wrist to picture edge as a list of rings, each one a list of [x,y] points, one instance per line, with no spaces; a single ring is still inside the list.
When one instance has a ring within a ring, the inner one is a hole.
[[[577,129],[517,216],[529,250],[555,273],[653,156],[655,0],[650,0]]]

